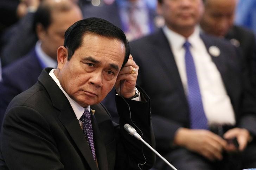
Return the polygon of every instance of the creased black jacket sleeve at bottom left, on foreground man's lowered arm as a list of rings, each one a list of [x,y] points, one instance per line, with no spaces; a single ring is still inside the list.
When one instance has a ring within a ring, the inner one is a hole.
[[[36,110],[26,106],[12,108],[5,116],[1,133],[0,154],[8,169],[64,169],[50,126]]]

